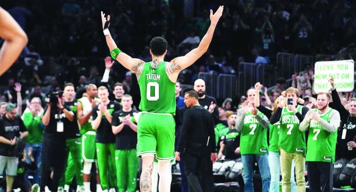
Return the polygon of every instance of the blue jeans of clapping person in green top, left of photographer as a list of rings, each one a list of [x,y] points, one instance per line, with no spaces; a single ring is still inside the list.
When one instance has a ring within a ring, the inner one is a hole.
[[[35,159],[36,165],[37,165],[37,170],[36,171],[26,171],[26,178],[28,178],[29,175],[33,175],[33,180],[31,184],[38,183],[39,184],[39,178],[41,175],[41,157],[42,157],[42,144],[26,144],[25,145],[25,150],[26,154],[28,154],[29,148],[32,148],[32,157]],[[30,162],[30,158],[26,158],[27,163]]]

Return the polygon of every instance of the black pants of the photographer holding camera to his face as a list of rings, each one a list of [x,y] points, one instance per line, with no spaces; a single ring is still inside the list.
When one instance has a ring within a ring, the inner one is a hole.
[[[46,139],[46,135],[44,135],[40,180],[41,191],[44,191],[46,186],[51,191],[57,191],[59,179],[64,172],[65,160],[65,140]],[[51,180],[52,171],[53,178]]]

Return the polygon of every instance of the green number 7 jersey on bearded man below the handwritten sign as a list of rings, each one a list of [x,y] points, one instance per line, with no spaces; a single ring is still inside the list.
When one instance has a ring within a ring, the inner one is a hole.
[[[333,109],[330,108],[327,113],[320,116],[327,122],[330,122],[329,115]],[[315,109],[318,113],[318,109]],[[308,136],[308,150],[306,153],[307,161],[323,161],[323,162],[334,162],[335,161],[335,148],[338,137],[338,131],[330,133],[329,131],[321,128],[320,124],[311,120],[309,125],[309,136]]]

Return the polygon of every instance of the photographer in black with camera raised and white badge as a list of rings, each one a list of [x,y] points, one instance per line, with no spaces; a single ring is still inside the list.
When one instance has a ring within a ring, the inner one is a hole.
[[[65,135],[63,120],[73,121],[74,113],[62,105],[63,92],[53,92],[46,98],[46,108],[42,117],[44,127],[41,164],[41,191],[48,186],[57,191],[59,179],[65,164]],[[53,175],[52,175],[53,172]],[[50,180],[52,178],[52,181]]]

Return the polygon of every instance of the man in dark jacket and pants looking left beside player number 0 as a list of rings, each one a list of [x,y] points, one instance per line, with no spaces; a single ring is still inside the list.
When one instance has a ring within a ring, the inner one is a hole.
[[[212,162],[216,161],[213,117],[203,106],[199,105],[196,92],[185,93],[184,102],[188,109],[184,114],[175,159],[179,161],[181,153],[184,153],[182,160],[185,164],[190,191],[214,191],[214,178],[210,177]],[[197,178],[199,173],[202,176],[200,184]]]

